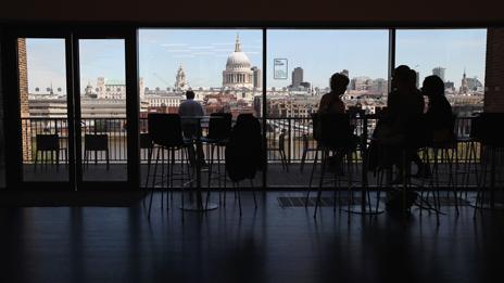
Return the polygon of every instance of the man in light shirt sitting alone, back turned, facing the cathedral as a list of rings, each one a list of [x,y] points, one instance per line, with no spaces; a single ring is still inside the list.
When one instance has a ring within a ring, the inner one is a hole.
[[[201,104],[194,101],[194,92],[192,90],[186,91],[186,101],[180,103],[178,107],[178,114],[181,117],[182,132],[186,139],[201,138],[201,125],[200,117],[204,116],[204,111]],[[200,158],[200,166],[206,166],[203,146],[201,143],[197,146],[198,157]],[[189,146],[189,162],[191,165],[196,165],[197,156],[194,154],[194,147]]]

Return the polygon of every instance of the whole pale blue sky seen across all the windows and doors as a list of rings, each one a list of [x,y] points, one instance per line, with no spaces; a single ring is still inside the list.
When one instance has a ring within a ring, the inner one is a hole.
[[[182,66],[191,87],[220,87],[226,60],[239,35],[252,66],[262,68],[262,30],[259,29],[140,29],[139,69],[149,88],[173,87]],[[267,86],[286,87],[291,72],[302,67],[304,81],[325,88],[335,72],[350,77],[387,78],[388,30],[267,30]],[[432,68],[445,67],[445,79],[458,87],[464,68],[468,77],[484,80],[486,29],[398,30],[396,65],[419,70],[420,80]],[[102,76],[125,78],[124,41],[80,40],[80,83],[96,85]],[[28,88],[65,89],[64,41],[28,39]],[[288,78],[275,79],[274,59],[288,60]]]

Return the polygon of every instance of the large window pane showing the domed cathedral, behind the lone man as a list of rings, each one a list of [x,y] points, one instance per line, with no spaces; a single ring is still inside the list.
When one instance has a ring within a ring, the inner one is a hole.
[[[194,101],[202,105],[205,116],[213,113],[229,113],[234,119],[242,113],[261,116],[262,36],[262,30],[256,29],[141,29],[140,139],[147,133],[148,113],[178,113],[188,90],[194,92]],[[206,136],[209,123],[203,119],[200,125]],[[220,164],[224,172],[224,147],[211,149],[203,145],[205,163],[213,160],[212,170],[217,170],[215,163]],[[156,153],[152,162],[149,153],[141,149],[142,185],[147,184],[149,164],[155,163]],[[209,185],[216,186],[223,179],[213,176],[210,180],[204,173],[203,180],[203,185],[210,182]],[[260,183],[257,180],[255,185]],[[181,183],[175,181],[174,185]]]

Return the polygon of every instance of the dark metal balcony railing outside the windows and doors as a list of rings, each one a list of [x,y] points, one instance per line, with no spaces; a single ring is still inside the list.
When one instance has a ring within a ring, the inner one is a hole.
[[[458,117],[455,124],[455,133],[462,140],[469,137],[470,117]],[[361,137],[363,144],[369,142],[369,138],[376,127],[377,119],[374,116],[355,117],[352,119],[355,126],[355,134]],[[207,124],[202,123],[203,136],[206,134]],[[109,141],[109,158],[111,164],[126,163],[127,160],[127,132],[126,118],[83,118],[81,142],[84,156],[84,136],[85,134],[106,134]],[[147,119],[140,119],[140,132],[147,132]],[[35,162],[36,137],[37,134],[59,134],[60,147],[67,149],[68,142],[68,124],[65,118],[23,118],[22,137],[24,163]],[[303,159],[310,163],[315,158],[316,142],[313,139],[313,127],[311,118],[289,117],[289,118],[266,118],[266,141],[267,141],[267,159],[269,163],[279,163],[281,160],[280,150],[285,151],[288,163],[300,163]],[[464,143],[458,144],[458,162],[464,163],[468,159],[466,156]],[[479,146],[479,145],[478,145]],[[311,150],[311,151],[310,151]],[[205,156],[209,152],[205,147]],[[177,156],[178,157],[178,156]],[[60,158],[64,158],[60,155]],[[97,158],[100,163],[105,162],[105,155],[99,153]],[[142,163],[148,160],[148,151],[141,150],[140,158]],[[479,159],[479,156],[477,157]]]

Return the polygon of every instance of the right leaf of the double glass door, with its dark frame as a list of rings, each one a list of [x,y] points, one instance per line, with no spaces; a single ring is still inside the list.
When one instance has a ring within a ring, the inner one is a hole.
[[[128,67],[136,64],[128,55],[131,40],[135,33],[74,35],[77,184],[86,190],[138,188],[138,78],[136,68]]]

